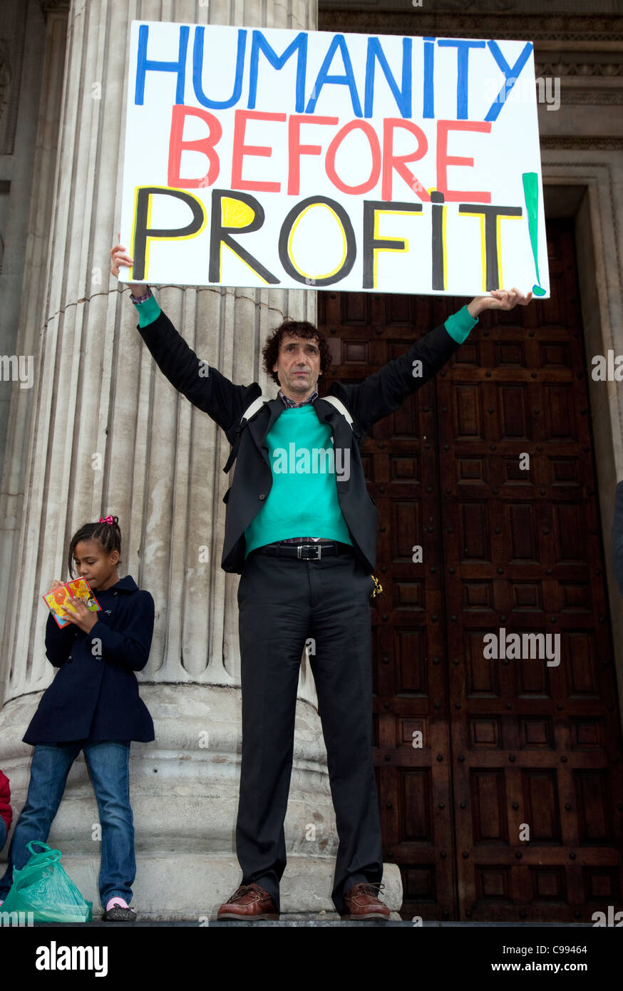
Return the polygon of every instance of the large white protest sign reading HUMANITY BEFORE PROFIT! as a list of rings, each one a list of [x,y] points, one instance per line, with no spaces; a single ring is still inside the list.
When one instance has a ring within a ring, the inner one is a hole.
[[[529,42],[134,22],[129,281],[549,295]]]

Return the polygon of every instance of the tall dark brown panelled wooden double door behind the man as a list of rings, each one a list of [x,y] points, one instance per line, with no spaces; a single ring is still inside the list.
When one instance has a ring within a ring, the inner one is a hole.
[[[549,224],[548,245],[552,298],[484,314],[363,447],[383,586],[374,762],[404,918],[590,922],[623,907],[610,548],[571,225]],[[328,383],[361,382],[466,301],[318,300]],[[514,633],[544,636],[515,659],[501,642]]]

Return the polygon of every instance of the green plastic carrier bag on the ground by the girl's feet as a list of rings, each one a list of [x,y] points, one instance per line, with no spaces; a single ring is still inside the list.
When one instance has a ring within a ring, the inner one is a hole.
[[[13,885],[1,911],[32,912],[36,923],[90,923],[93,903],[82,898],[60,866],[60,850],[39,839],[26,845],[32,856],[22,870],[13,868]],[[44,852],[36,853],[34,846],[43,846]]]

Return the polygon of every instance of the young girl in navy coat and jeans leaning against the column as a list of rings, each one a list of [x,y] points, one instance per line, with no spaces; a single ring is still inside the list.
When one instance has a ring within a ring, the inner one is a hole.
[[[46,654],[58,668],[44,693],[24,742],[35,745],[31,780],[0,879],[0,902],[30,857],[31,839],[48,839],[69,768],[82,750],[101,825],[99,894],[109,922],[136,919],[134,824],[130,808],[130,741],[153,740],[154,722],[139,697],[134,674],[148,662],[154,631],[154,600],[129,575],[119,578],[121,531],[117,516],[86,523],[71,538],[67,565],[86,579],[100,606],[79,600],[63,610],[66,626],[48,616]],[[52,582],[51,590],[61,583]]]

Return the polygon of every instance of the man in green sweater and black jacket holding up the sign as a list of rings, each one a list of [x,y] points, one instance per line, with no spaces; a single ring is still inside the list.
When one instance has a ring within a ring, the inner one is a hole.
[[[133,265],[121,245],[111,258],[115,276]],[[479,313],[527,305],[532,293],[500,289],[472,299],[361,385],[335,383],[325,398],[317,391],[331,364],[324,336],[309,323],[286,321],[263,349],[264,369],[280,386],[268,399],[258,383],[234,385],[212,366],[206,376],[149,286],[135,283],[133,292],[139,332],[160,370],[225,430],[232,444],[226,470],[236,460],[221,565],[242,575],[236,838],[243,879],[219,919],[278,917],[298,671],[309,637],[340,836],[333,901],[342,916],[386,919],[377,897],[382,845],[371,760],[376,510],[360,449],[375,422],[449,361]]]

